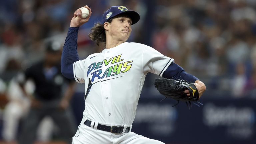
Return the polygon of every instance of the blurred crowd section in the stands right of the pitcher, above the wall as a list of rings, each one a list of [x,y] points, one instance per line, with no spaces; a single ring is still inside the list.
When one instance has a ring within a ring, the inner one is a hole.
[[[202,79],[209,95],[255,97],[256,1],[160,0],[156,6],[155,49]]]

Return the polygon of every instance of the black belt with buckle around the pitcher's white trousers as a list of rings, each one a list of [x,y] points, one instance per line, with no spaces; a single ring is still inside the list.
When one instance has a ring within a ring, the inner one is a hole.
[[[91,123],[92,122],[90,120],[86,120],[84,122],[84,124],[87,125],[88,127],[91,127]],[[93,124],[93,127],[94,127],[94,124]],[[121,134],[124,130],[124,126],[123,125],[106,126],[106,125],[98,124],[97,129],[98,130],[103,130],[103,131],[106,131],[106,132],[111,132],[113,134]],[[129,131],[130,131],[130,127],[127,127],[126,130],[124,131],[124,133],[128,133]]]

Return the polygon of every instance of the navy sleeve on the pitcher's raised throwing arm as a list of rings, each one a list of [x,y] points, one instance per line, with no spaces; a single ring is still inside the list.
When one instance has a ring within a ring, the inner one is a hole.
[[[75,79],[73,63],[79,61],[77,53],[77,35],[79,27],[70,27],[61,55],[61,73],[68,79]]]

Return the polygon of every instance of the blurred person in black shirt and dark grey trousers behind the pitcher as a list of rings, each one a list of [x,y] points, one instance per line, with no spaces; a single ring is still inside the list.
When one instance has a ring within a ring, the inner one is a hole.
[[[36,130],[45,116],[50,116],[60,129],[62,140],[71,143],[75,133],[69,101],[74,92],[74,82],[61,74],[61,45],[49,42],[45,58],[27,68],[24,79],[19,80],[25,95],[31,100],[31,108],[19,136],[19,144],[32,144],[36,139]],[[35,92],[29,95],[24,90],[24,82],[31,79]],[[66,87],[65,87],[66,84]]]

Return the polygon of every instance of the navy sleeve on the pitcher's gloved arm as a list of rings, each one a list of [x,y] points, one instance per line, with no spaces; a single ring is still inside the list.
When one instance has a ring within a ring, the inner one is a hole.
[[[173,78],[174,80],[183,79],[187,80],[187,82],[195,82],[196,80],[199,80],[197,77],[185,72],[182,67],[173,62],[168,66],[162,76],[163,78]]]

